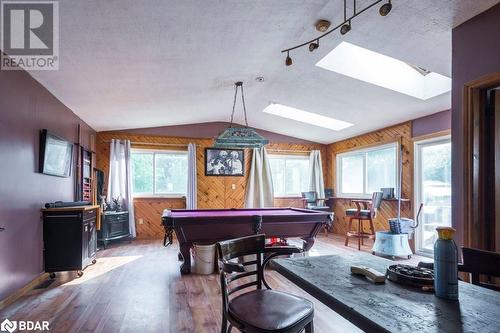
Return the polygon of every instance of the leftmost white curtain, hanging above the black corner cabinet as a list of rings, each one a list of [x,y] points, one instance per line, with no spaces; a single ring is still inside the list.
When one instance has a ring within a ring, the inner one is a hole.
[[[130,234],[135,238],[132,164],[130,161],[129,140],[111,140],[107,200],[111,202],[113,198],[120,198],[122,209],[128,211]]]

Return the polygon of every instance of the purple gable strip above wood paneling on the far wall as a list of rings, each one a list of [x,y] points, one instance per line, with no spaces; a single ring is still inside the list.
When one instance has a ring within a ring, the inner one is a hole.
[[[236,126],[242,126],[237,125]],[[162,127],[149,127],[149,128],[136,128],[125,129],[116,132],[135,133],[140,135],[159,135],[159,136],[178,136],[185,138],[215,138],[223,130],[229,126],[229,123],[217,121],[198,124],[176,125],[176,126],[162,126]],[[274,132],[268,132],[257,129],[257,133],[272,142],[279,143],[297,143],[297,144],[313,144],[315,142],[306,141],[291,136],[281,135]]]

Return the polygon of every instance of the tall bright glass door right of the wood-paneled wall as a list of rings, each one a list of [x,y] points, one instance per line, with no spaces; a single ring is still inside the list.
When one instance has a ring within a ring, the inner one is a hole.
[[[415,204],[424,204],[416,250],[432,255],[436,227],[451,226],[451,138],[415,142]]]

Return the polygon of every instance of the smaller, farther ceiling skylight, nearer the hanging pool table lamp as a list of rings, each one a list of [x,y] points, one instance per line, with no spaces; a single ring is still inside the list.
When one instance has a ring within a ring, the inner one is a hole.
[[[314,126],[332,129],[334,131],[340,131],[347,127],[353,126],[353,124],[346,121],[337,120],[316,113],[302,111],[282,104],[269,104],[269,106],[267,106],[263,110],[263,112],[283,118],[300,121],[302,123],[311,124]]]

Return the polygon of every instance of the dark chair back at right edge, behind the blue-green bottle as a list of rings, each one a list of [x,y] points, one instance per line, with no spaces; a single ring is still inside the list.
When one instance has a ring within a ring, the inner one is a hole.
[[[471,273],[472,284],[500,291],[500,285],[480,280],[480,275],[500,277],[500,253],[462,247],[462,256],[458,270]]]

